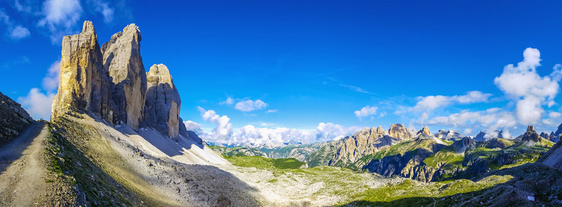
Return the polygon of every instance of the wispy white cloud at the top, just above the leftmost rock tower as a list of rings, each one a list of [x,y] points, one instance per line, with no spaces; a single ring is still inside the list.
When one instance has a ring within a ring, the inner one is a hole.
[[[73,32],[82,15],[82,6],[78,0],[47,0],[41,14],[43,18],[37,25],[49,29],[52,43],[60,43],[64,35]]]

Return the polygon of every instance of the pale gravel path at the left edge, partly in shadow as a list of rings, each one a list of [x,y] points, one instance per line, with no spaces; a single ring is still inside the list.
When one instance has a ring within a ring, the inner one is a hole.
[[[48,188],[42,159],[44,122],[35,122],[21,136],[0,148],[0,206],[38,206]]]

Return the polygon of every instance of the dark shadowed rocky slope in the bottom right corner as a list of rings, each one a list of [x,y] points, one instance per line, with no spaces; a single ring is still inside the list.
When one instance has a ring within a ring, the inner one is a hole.
[[[562,171],[543,164],[525,164],[482,176],[511,175],[509,181],[468,193],[436,197],[404,197],[392,201],[351,201],[342,206],[560,206]],[[450,186],[449,186],[450,187]],[[457,186],[464,188],[466,186]],[[444,187],[442,187],[444,188]],[[442,190],[439,189],[439,190]],[[392,192],[388,192],[392,193]],[[400,195],[396,192],[396,195]],[[377,199],[374,197],[374,199]],[[533,201],[532,201],[533,200]]]

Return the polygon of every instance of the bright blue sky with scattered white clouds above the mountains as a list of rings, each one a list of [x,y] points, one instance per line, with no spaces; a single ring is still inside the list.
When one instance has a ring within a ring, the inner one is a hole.
[[[562,123],[561,4],[1,0],[0,91],[49,117],[62,35],[91,20],[103,44],[136,23],[146,69],[170,68],[181,116],[208,139],[315,141],[393,123],[550,132]]]

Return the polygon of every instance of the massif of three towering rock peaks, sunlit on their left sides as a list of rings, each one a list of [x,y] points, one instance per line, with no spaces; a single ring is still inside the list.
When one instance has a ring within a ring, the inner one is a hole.
[[[168,68],[155,65],[146,73],[140,42],[141,32],[134,23],[101,47],[91,21],[85,21],[80,34],[64,37],[51,117],[87,112],[109,124],[124,123],[134,130],[150,126],[171,138],[189,138]]]

